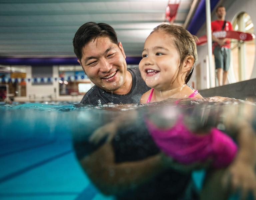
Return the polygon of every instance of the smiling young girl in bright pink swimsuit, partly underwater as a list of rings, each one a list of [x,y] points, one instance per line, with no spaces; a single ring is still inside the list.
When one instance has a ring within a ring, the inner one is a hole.
[[[154,28],[145,41],[139,63],[143,80],[152,88],[142,95],[141,103],[167,98],[202,98],[197,90],[186,85],[196,61],[195,37],[188,31],[166,24]],[[145,120],[149,133],[164,153],[183,164],[212,159],[212,166],[216,168],[233,161],[237,146],[229,136],[217,128],[203,135],[193,133],[181,114],[176,118],[170,128],[159,128],[151,120]]]

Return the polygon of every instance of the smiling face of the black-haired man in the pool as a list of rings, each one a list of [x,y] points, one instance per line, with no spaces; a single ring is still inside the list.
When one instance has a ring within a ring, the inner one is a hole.
[[[92,39],[82,49],[78,62],[88,78],[106,91],[115,91],[126,80],[127,65],[121,42],[113,43],[108,37]]]

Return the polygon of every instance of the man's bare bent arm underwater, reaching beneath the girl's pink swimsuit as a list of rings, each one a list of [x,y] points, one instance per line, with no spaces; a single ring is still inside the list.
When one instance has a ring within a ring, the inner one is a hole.
[[[95,186],[106,195],[115,195],[136,187],[168,166],[161,154],[141,161],[115,163],[114,152],[109,143],[82,158],[80,164]]]

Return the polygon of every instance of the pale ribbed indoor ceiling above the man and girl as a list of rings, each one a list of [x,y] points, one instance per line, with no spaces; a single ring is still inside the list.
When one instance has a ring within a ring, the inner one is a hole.
[[[117,32],[127,56],[141,56],[146,37],[165,21],[168,0],[0,0],[0,57],[75,57],[72,39],[89,21]],[[193,0],[179,3],[183,25]]]

